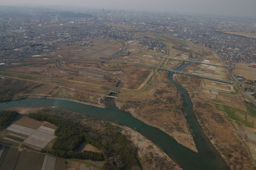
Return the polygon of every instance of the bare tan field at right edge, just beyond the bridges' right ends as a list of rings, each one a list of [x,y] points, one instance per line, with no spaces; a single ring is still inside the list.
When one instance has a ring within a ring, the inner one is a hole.
[[[246,63],[237,63],[232,74],[238,74],[247,80],[256,80],[256,68],[249,67]]]

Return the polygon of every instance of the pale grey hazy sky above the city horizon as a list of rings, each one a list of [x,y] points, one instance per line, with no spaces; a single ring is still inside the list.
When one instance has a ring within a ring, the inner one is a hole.
[[[256,18],[256,0],[0,0],[1,5],[30,3],[154,12],[219,14]]]

